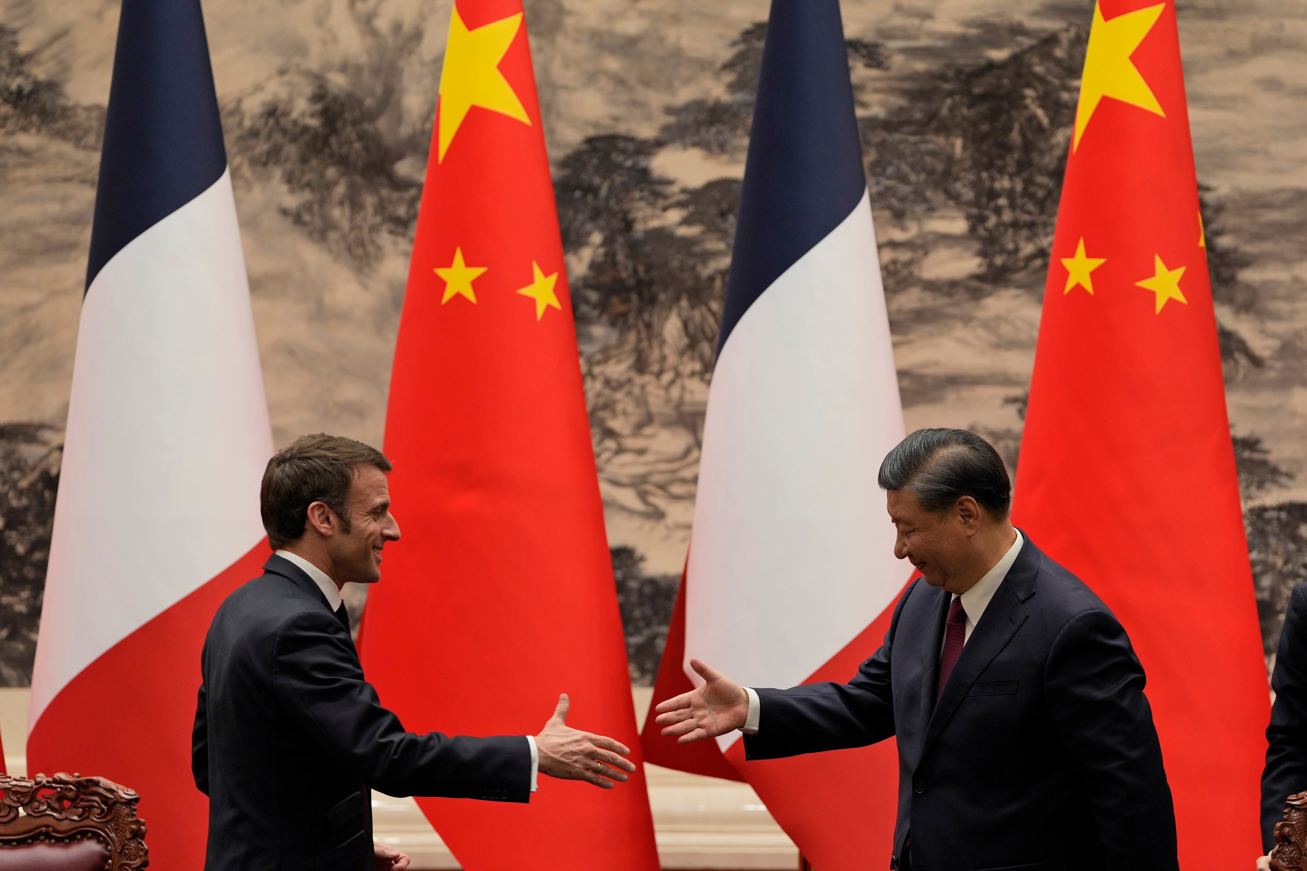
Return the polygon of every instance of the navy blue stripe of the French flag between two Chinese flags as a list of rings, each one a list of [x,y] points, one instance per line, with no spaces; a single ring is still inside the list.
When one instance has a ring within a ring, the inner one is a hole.
[[[772,0],[719,354],[749,306],[865,189],[839,0]]]

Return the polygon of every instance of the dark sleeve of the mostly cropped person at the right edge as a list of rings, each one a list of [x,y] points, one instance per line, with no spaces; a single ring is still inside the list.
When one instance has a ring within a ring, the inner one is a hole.
[[[1261,845],[1276,845],[1285,799],[1307,790],[1307,584],[1294,588],[1270,675],[1276,704],[1266,726],[1266,768],[1261,772]]]

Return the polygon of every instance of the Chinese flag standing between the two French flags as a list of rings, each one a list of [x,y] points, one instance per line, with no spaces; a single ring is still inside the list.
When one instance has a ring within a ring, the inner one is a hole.
[[[404,538],[362,639],[382,703],[412,731],[536,734],[566,692],[569,725],[638,756],[520,0],[454,8],[386,453]],[[642,770],[418,803],[469,871],[659,867]]]

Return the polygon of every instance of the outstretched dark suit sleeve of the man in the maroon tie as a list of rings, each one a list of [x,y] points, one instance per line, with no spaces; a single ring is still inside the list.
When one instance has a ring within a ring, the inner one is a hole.
[[[890,686],[894,633],[903,603],[915,586],[910,586],[894,607],[885,641],[848,683],[755,689],[761,703],[758,734],[744,736],[745,759],[780,759],[865,747],[894,734],[894,693]]]

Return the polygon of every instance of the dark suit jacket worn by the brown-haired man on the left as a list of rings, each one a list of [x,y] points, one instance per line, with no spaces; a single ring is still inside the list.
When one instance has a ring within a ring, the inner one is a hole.
[[[191,763],[209,797],[208,871],[371,868],[370,787],[528,800],[525,736],[404,731],[312,578],[277,555],[263,568],[218,609],[200,659]]]

